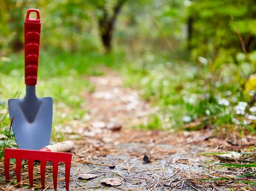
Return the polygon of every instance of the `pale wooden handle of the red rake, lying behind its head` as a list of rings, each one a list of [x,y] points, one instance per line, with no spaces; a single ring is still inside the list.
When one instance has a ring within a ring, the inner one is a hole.
[[[71,140],[63,141],[61,143],[55,143],[54,145],[47,145],[40,149],[40,151],[52,151],[52,152],[67,152],[73,149],[75,143]]]

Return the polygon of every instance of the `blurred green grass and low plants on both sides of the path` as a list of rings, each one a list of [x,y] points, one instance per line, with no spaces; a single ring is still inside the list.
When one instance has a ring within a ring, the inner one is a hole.
[[[6,114],[9,98],[24,96],[24,58],[23,54],[8,56],[10,62],[0,62],[0,119]],[[123,79],[126,87],[138,90],[142,99],[149,101],[159,110],[148,119],[147,125],[140,129],[183,129],[193,121],[201,120],[200,125],[189,126],[193,131],[211,126],[216,132],[233,131],[234,120],[223,112],[243,120],[244,115],[235,114],[234,107],[239,102],[251,98],[232,70],[209,71],[202,63],[183,61],[177,63],[169,54],[146,52],[134,57],[130,54],[64,54],[61,52],[40,52],[38,70],[38,97],[50,96],[54,100],[53,126],[64,126],[69,121],[81,120],[87,111],[81,108],[86,104],[83,91],[93,93],[95,87],[84,76],[104,75],[103,67],[115,70]],[[225,72],[223,72],[225,71]],[[221,105],[221,100],[229,102]],[[70,112],[62,115],[64,110]],[[247,111],[255,115],[255,112]],[[227,129],[227,126],[230,129]],[[0,132],[8,133],[9,116],[3,120]],[[52,137],[63,139],[63,135],[53,128]]]

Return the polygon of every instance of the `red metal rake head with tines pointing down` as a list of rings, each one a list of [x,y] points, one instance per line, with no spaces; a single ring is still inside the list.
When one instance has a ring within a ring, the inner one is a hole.
[[[45,185],[45,168],[46,162],[52,162],[52,174],[53,174],[53,187],[57,189],[57,175],[58,175],[58,163],[65,163],[65,181],[66,181],[66,190],[69,189],[69,180],[70,180],[70,166],[71,166],[71,153],[61,153],[61,152],[49,152],[49,151],[35,151],[35,150],[26,150],[26,149],[15,149],[15,148],[6,148],[4,151],[4,171],[6,180],[9,181],[9,162],[11,158],[16,159],[16,176],[17,176],[17,185],[20,186],[20,170],[21,170],[21,161],[23,159],[28,160],[29,163],[29,185],[33,187],[33,167],[34,161],[40,161],[40,174],[41,174],[41,185],[44,188]]]

